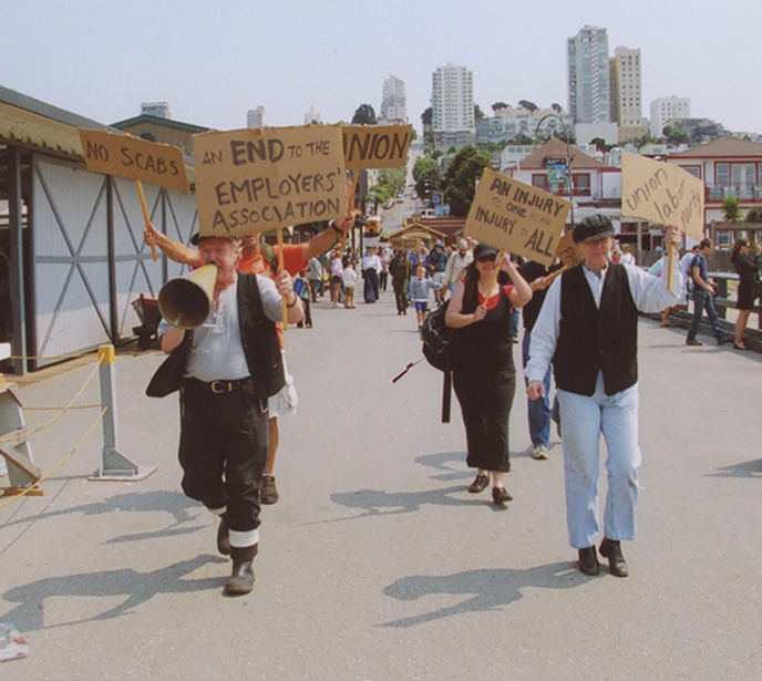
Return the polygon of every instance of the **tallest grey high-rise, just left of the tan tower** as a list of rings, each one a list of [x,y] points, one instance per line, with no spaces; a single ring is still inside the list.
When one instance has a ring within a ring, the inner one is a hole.
[[[575,123],[608,123],[610,83],[606,29],[586,25],[567,40],[569,114]]]

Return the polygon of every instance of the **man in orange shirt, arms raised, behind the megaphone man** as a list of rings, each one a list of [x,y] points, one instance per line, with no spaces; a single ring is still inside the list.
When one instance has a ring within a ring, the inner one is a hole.
[[[328,228],[320,231],[312,237],[307,244],[286,244],[282,248],[284,268],[296,277],[302,269],[309,265],[310,258],[319,256],[331,248],[331,246],[343,237],[347,231],[354,225],[354,215],[340,221],[331,221]],[[143,234],[146,245],[158,247],[164,255],[174,260],[197,268],[200,266],[200,256],[198,250],[186,246],[179,241],[171,239],[165,234],[158,231],[153,225],[150,225]],[[278,274],[278,257],[280,255],[279,246],[270,246],[261,240],[262,235],[253,234],[241,238],[241,258],[238,261],[238,270],[243,272],[251,272],[255,275],[265,275],[275,279]],[[280,340],[280,348],[284,349],[282,328],[278,324],[278,338]],[[296,411],[296,390],[294,389],[292,379],[288,376],[290,382],[284,386],[278,395],[270,399],[269,404],[269,445],[267,453],[267,464],[265,466],[265,482],[261,493],[262,504],[275,504],[278,501],[278,491],[275,485],[275,457],[278,451],[278,443],[280,440],[280,431],[278,427],[278,416],[292,414]],[[292,405],[292,406],[291,406]]]

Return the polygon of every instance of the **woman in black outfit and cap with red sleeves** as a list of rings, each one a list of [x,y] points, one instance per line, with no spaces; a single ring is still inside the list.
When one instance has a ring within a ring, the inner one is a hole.
[[[507,281],[511,283],[507,283]],[[496,504],[509,502],[503,475],[511,470],[508,416],[516,390],[511,311],[528,302],[532,289],[507,256],[486,244],[457,282],[445,317],[460,329],[453,352],[453,385],[465,425],[466,464],[478,468],[468,492],[490,484]]]

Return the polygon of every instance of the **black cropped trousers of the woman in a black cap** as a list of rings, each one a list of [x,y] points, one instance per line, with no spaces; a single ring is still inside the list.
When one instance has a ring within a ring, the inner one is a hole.
[[[465,463],[472,468],[507,473],[508,417],[516,392],[516,371],[454,371],[453,388],[465,425]]]

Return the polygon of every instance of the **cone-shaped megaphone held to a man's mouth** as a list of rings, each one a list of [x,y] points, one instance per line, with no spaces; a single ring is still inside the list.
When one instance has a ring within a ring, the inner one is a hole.
[[[182,277],[169,279],[158,291],[158,311],[173,327],[195,329],[209,316],[217,280],[217,266],[205,265]]]

